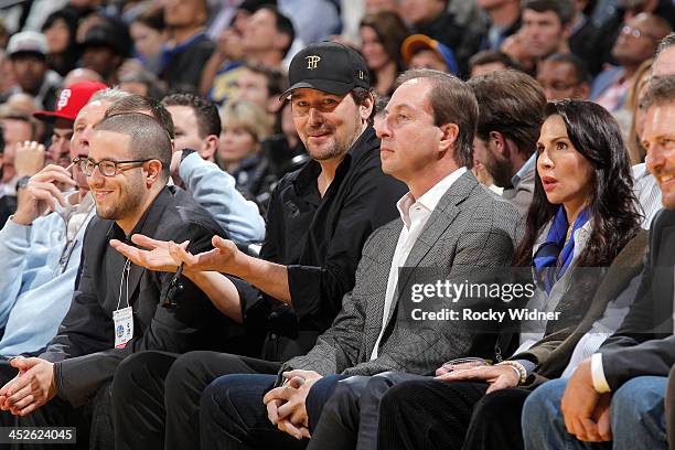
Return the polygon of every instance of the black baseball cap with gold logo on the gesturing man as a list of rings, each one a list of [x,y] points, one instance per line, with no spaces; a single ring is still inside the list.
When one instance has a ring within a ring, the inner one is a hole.
[[[334,95],[345,95],[355,87],[371,87],[363,56],[336,42],[311,44],[298,52],[290,63],[288,81],[290,87],[281,94],[280,100],[293,89],[303,87]]]

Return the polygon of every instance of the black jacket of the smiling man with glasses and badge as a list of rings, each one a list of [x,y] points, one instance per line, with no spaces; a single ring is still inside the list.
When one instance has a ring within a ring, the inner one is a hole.
[[[191,251],[211,249],[211,238],[225,236],[185,191],[164,188],[131,234],[156,239],[190,239]],[[113,311],[127,307],[127,287],[120,287],[126,258],[113,249],[111,238],[125,240],[114,222],[94,217],[84,238],[83,272],[71,309],[41,357],[55,362],[58,395],[74,405],[93,397],[101,383],[113,378],[117,365],[132,353],[163,350],[228,349],[228,331],[235,326],[208,298],[188,279],[174,297],[174,309],[159,306],[173,278],[131,265],[129,304],[133,310],[133,339],[125,349],[114,349]],[[119,307],[118,307],[119,303]]]

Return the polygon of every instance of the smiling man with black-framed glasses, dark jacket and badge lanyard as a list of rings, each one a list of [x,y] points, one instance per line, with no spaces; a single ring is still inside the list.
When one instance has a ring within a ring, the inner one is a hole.
[[[86,229],[71,309],[40,357],[11,360],[19,374],[0,388],[0,409],[21,416],[20,426],[78,426],[83,447],[92,416],[83,406],[108,409],[101,405],[109,403],[109,382],[128,355],[234,350],[227,339],[233,322],[196,286],[181,279],[182,288],[167,299],[173,274],[144,270],[108,245],[143,233],[190,240],[201,251],[213,248],[213,235],[225,235],[189,193],[167,185],[167,130],[144,114],[116,115],[96,126],[88,147],[88,156],[74,163],[86,176],[97,216]],[[160,307],[163,300],[175,307]],[[4,366],[6,382],[9,372]],[[0,420],[9,426],[14,419],[4,413]]]

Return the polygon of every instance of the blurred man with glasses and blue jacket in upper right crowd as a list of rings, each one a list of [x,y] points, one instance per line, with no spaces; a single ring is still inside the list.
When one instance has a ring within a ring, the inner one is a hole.
[[[619,66],[602,72],[593,81],[589,98],[613,113],[623,107],[640,65],[651,57],[658,41],[672,31],[668,22],[649,12],[629,20],[612,47]]]

